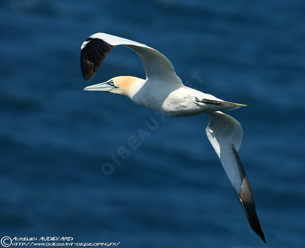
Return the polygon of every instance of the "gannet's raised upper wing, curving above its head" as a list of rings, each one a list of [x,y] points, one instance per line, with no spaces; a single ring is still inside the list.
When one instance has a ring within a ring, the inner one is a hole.
[[[81,69],[84,79],[89,81],[94,76],[106,56],[116,45],[124,45],[139,55],[146,72],[146,78],[162,78],[182,85],[181,79],[176,75],[171,61],[157,50],[135,41],[105,33],[91,35],[82,43]]]

